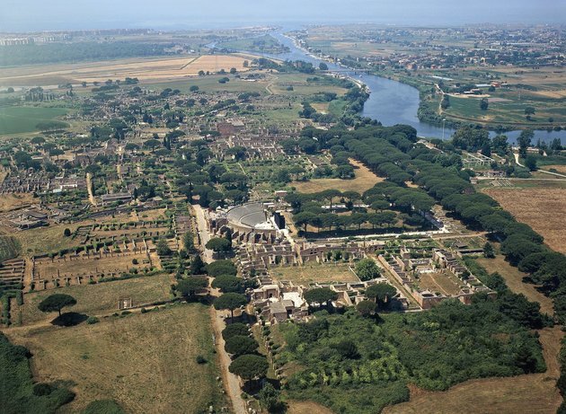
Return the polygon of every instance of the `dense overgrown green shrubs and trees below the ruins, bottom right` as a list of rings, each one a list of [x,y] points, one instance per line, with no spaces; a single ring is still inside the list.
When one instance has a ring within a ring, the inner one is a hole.
[[[388,295],[378,292],[376,301]],[[522,315],[501,313],[497,300],[477,298],[469,306],[447,301],[426,313],[389,314],[378,324],[365,317],[375,314],[375,306],[364,304],[363,313],[319,313],[312,322],[279,328],[287,346],[276,364],[294,361],[303,368],[284,383],[291,398],[344,413],[379,412],[408,401],[407,383],[446,390],[471,378],[545,369],[535,335],[519,321]]]

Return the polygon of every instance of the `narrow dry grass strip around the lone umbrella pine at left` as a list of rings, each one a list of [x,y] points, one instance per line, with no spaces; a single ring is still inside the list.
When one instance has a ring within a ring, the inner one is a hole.
[[[167,300],[170,297],[171,284],[171,275],[155,275],[97,285],[64,286],[56,290],[33,292],[23,296],[22,306],[14,303],[14,321],[19,318],[19,313],[22,313],[23,325],[52,320],[56,314],[40,312],[38,304],[47,296],[55,293],[75,297],[76,304],[68,308],[68,311],[93,314],[113,313],[118,312],[118,301],[122,297],[130,297],[134,306]]]

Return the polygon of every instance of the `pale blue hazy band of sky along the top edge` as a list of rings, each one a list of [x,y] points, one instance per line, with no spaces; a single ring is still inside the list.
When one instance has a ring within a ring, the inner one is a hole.
[[[566,0],[0,0],[0,31],[278,22],[566,23]]]

